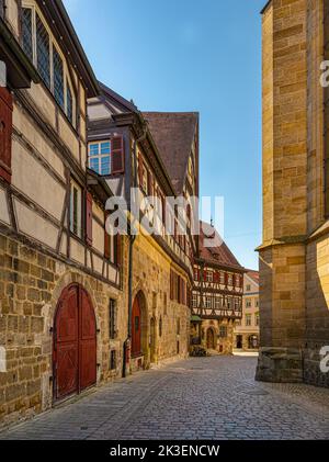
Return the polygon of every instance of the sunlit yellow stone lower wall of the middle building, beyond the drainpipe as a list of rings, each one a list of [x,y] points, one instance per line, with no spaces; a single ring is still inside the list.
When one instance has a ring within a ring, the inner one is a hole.
[[[149,368],[151,363],[170,358],[185,358],[189,353],[191,312],[186,305],[170,300],[170,269],[173,262],[152,237],[143,235],[136,238],[133,259],[133,300],[140,292],[145,298],[143,338],[146,340],[143,364],[139,360],[139,367]],[[178,267],[175,271],[186,278]],[[155,323],[154,351],[150,348],[151,319]],[[137,361],[133,360],[133,369],[138,367]]]

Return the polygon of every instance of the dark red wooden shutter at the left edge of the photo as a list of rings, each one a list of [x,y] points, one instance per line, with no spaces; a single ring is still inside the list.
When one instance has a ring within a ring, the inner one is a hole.
[[[0,87],[0,177],[11,182],[12,95]]]

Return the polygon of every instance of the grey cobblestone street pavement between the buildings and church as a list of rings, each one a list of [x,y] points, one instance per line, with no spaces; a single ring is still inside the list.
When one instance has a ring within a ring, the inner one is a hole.
[[[140,372],[0,439],[329,439],[329,390],[254,382],[256,363],[193,358]]]

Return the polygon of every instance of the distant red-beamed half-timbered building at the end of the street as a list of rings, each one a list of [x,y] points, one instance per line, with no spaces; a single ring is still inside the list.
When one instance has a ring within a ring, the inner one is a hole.
[[[230,354],[235,323],[242,316],[245,269],[212,225],[202,222],[200,230],[194,261],[191,349],[201,346]]]

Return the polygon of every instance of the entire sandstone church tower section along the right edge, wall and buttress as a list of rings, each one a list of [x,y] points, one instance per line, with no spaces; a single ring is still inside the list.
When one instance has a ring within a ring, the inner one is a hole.
[[[272,0],[263,27],[263,243],[257,379],[329,386],[329,1]],[[328,80],[328,79],[327,79]]]

